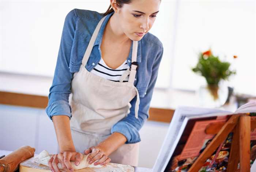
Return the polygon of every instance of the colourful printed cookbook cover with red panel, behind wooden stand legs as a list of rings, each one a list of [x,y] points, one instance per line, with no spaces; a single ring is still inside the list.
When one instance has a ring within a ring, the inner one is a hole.
[[[230,116],[229,116],[230,117]],[[210,119],[212,117],[191,118],[183,130],[180,140],[171,157],[168,159],[164,172],[185,172],[195,163],[196,159],[214,139],[214,135],[205,134],[205,129],[214,122],[226,122],[226,119]],[[255,117],[251,117],[252,119]],[[225,141],[207,158],[199,172],[225,172],[229,162],[230,149],[233,142],[233,132],[230,132]],[[256,159],[256,140],[251,132],[251,165]],[[238,164],[239,168],[239,164]],[[252,168],[253,169],[253,168]]]

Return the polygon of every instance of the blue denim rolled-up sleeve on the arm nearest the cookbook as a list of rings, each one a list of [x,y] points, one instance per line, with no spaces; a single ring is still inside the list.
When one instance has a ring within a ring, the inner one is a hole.
[[[119,132],[127,138],[127,142],[125,142],[125,144],[132,144],[132,143],[141,141],[139,130],[142,128],[144,122],[148,118],[150,102],[153,95],[155,82],[157,81],[158,69],[159,69],[162,56],[163,56],[163,47],[161,47],[161,50],[159,51],[154,61],[151,79],[147,88],[147,94],[144,97],[140,98],[138,119],[135,118],[135,103],[136,103],[136,96],[135,96],[130,102],[131,108],[130,108],[130,113],[127,115],[127,117],[118,121],[111,128],[111,133]]]

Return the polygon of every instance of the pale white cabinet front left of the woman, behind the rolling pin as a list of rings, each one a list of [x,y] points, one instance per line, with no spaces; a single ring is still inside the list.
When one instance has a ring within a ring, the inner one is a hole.
[[[0,149],[14,151],[21,146],[49,153],[58,151],[58,142],[52,121],[44,109],[0,105]]]

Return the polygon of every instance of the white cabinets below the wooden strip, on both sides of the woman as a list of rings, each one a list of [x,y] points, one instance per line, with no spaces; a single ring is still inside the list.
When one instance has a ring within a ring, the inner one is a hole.
[[[139,167],[153,167],[168,127],[168,123],[154,121],[142,127]],[[0,104],[0,139],[0,150],[14,151],[28,145],[35,148],[35,154],[59,152],[53,122],[45,109]]]

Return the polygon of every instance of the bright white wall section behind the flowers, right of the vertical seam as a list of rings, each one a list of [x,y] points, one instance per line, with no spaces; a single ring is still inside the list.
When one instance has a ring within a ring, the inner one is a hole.
[[[198,53],[211,48],[237,70],[229,82],[234,91],[256,95],[255,0],[179,0],[175,35],[174,88],[195,90],[206,83],[191,68]]]

